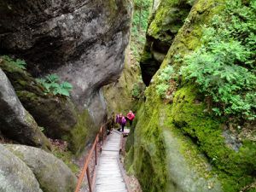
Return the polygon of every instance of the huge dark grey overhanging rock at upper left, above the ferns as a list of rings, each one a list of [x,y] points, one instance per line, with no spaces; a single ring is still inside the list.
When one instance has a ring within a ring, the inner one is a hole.
[[[0,53],[25,59],[35,77],[59,74],[73,84],[76,105],[102,121],[100,90],[123,69],[130,1],[3,0],[0,16]]]

